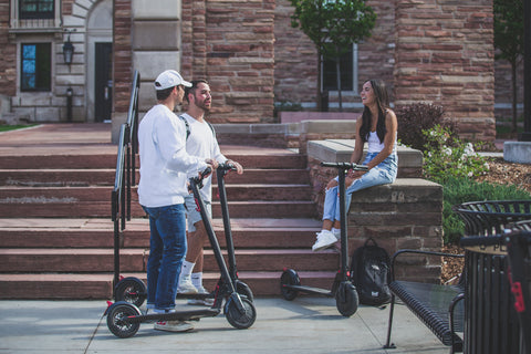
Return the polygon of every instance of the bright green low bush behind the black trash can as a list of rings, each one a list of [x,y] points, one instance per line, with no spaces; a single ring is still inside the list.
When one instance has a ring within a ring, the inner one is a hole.
[[[442,229],[445,243],[457,243],[465,233],[465,223],[451,207],[467,201],[529,200],[531,195],[511,185],[479,183],[451,176],[442,185]]]

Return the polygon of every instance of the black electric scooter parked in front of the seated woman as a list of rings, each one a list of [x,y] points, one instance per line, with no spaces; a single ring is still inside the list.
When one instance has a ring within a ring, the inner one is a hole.
[[[284,269],[280,278],[280,291],[285,300],[293,300],[299,292],[311,293],[315,295],[325,295],[335,298],[337,311],[350,317],[357,311],[360,299],[354,284],[351,282],[347,273],[348,249],[347,249],[347,230],[346,230],[346,206],[345,206],[345,175],[350,169],[367,170],[366,166],[350,163],[321,163],[324,167],[335,167],[339,171],[340,188],[340,212],[341,212],[341,267],[335,274],[332,289],[321,289],[301,285],[299,274],[293,269]]]

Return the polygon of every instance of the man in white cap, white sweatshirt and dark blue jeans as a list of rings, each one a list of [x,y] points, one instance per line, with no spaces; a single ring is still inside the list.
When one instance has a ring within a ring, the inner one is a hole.
[[[175,312],[177,283],[186,254],[184,197],[188,176],[217,163],[186,153],[186,127],[174,108],[183,103],[185,86],[175,70],[157,76],[158,104],[152,107],[138,127],[140,180],[138,201],[149,216],[149,258],[147,262],[147,309],[157,313]],[[155,330],[184,332],[194,326],[185,321],[159,321]]]

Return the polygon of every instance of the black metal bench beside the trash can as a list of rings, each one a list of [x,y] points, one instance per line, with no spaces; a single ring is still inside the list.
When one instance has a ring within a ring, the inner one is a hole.
[[[461,302],[465,298],[464,284],[460,282],[457,285],[442,285],[396,280],[396,259],[398,256],[405,253],[464,257],[464,254],[449,254],[421,250],[399,250],[393,256],[389,282],[392,299],[387,326],[387,341],[384,348],[396,347],[394,343],[391,343],[391,333],[397,296],[429,330],[431,330],[442,344],[450,346],[450,353],[462,352],[462,339],[456,332],[462,332],[464,329],[464,305]]]

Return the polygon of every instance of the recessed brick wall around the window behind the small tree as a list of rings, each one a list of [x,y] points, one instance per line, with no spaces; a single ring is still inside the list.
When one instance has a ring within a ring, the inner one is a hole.
[[[358,88],[368,79],[382,79],[393,93],[394,3],[367,1],[377,14],[371,38],[358,44]],[[315,103],[317,54],[315,44],[300,29],[291,27],[293,7],[278,0],[274,13],[274,100],[275,102]],[[377,64],[375,64],[377,63]],[[336,102],[336,95],[330,102]],[[343,93],[343,102],[361,103],[356,95]],[[363,108],[344,110],[362,112]]]

